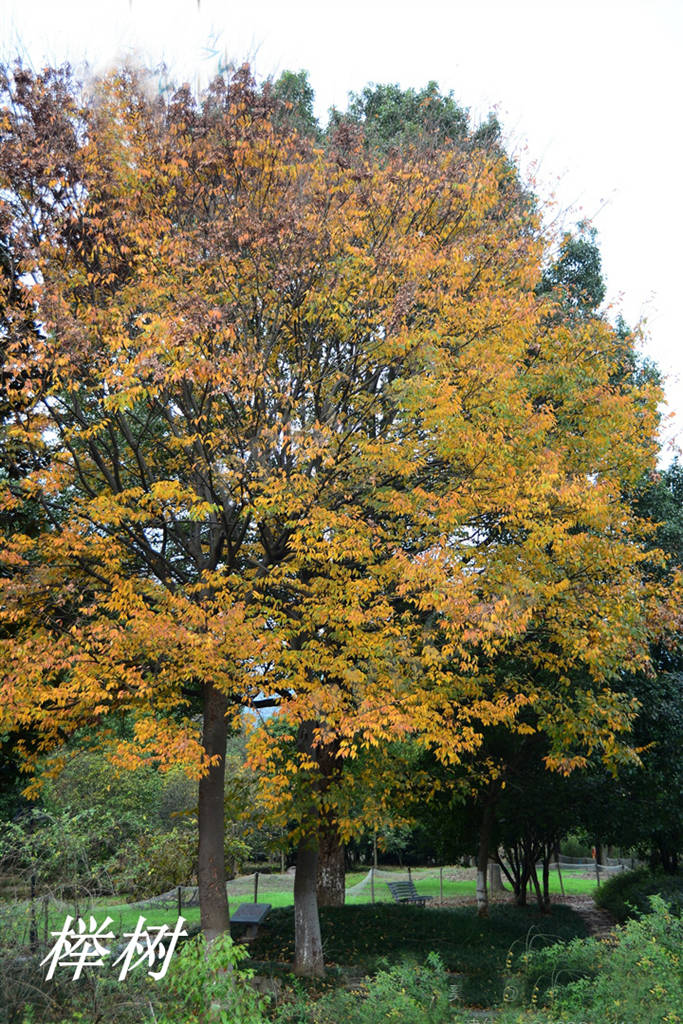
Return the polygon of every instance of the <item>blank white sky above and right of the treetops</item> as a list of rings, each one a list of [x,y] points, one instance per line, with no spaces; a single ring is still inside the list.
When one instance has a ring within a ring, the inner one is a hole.
[[[226,55],[306,69],[323,119],[368,82],[435,79],[475,120],[496,108],[540,195],[597,227],[608,299],[646,319],[679,445],[682,44],[683,0],[0,0],[0,55],[34,67],[132,50],[203,83]]]

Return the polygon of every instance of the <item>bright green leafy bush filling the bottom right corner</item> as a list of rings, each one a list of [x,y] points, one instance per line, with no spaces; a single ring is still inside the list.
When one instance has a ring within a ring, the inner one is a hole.
[[[683,1020],[683,922],[660,896],[650,912],[606,940],[583,939],[526,954],[520,989],[558,1020],[679,1024]]]

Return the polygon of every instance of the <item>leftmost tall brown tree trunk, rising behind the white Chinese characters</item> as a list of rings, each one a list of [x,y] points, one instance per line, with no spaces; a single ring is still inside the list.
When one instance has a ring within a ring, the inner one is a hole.
[[[202,931],[211,942],[227,931],[230,915],[225,891],[224,820],[227,697],[214,686],[204,688],[204,750],[218,762],[200,779],[200,852],[198,883]]]

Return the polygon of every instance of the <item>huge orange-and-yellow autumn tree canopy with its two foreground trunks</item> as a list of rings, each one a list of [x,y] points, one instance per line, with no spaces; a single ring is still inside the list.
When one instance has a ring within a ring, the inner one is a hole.
[[[226,736],[267,693],[301,782],[297,968],[319,973],[321,822],[359,749],[417,730],[457,760],[528,707],[555,766],[614,745],[609,679],[655,613],[621,489],[658,393],[614,385],[607,324],[556,315],[493,129],[387,147],[355,111],[322,137],[247,69],[168,102],[130,70],[1,84],[38,328],[3,328],[7,430],[40,454],[3,502],[42,518],[2,550],[0,729],[39,737],[29,768],[80,730],[195,771],[212,937]],[[501,684],[535,621],[538,678]]]

